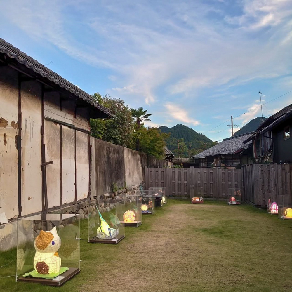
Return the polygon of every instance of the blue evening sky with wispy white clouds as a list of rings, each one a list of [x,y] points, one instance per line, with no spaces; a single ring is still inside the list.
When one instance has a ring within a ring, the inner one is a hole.
[[[234,131],[261,116],[258,91],[265,117],[292,103],[291,0],[11,0],[0,37],[89,94],[147,109],[147,126],[220,141],[231,115]]]

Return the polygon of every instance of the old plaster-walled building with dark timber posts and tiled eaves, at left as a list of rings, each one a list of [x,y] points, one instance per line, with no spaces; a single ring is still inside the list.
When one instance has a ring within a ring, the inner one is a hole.
[[[8,219],[90,195],[91,95],[0,39],[0,212]]]

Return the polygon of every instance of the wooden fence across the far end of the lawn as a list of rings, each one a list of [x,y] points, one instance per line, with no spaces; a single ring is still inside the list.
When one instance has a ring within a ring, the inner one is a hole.
[[[242,185],[241,169],[145,168],[145,187],[167,187],[168,197],[190,197],[190,186],[202,187],[204,198],[227,199],[228,188]],[[242,198],[244,200],[244,197]]]

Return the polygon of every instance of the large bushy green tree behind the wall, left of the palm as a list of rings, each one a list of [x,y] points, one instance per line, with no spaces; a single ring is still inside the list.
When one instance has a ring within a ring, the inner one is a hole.
[[[134,123],[131,110],[120,98],[111,98],[100,93],[92,95],[99,104],[107,107],[115,117],[111,119],[91,119],[90,126],[93,137],[120,146],[129,147],[132,143]]]

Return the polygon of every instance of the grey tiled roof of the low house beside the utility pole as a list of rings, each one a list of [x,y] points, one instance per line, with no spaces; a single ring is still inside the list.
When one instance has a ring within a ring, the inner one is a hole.
[[[248,139],[253,133],[242,134],[239,136],[224,139],[222,142],[214,145],[213,147],[200,152],[192,158],[221,155],[221,154],[234,154],[241,149],[246,149],[251,145],[251,141],[244,144],[243,142]]]

